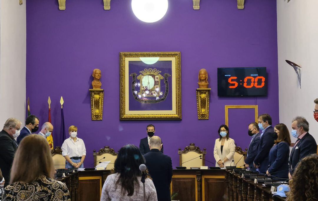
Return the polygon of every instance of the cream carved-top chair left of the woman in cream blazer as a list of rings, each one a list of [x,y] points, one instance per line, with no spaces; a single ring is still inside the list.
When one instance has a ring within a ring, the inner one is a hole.
[[[178,154],[180,158],[180,166],[187,167],[187,169],[190,169],[191,167],[200,168],[201,166],[205,165],[204,159],[206,148],[204,148],[202,151],[199,147],[196,147],[194,143],[190,143],[190,146],[185,147],[183,151],[181,151],[181,148],[179,148]],[[202,159],[200,159],[200,155]]]

